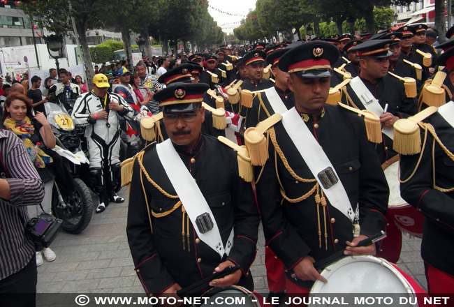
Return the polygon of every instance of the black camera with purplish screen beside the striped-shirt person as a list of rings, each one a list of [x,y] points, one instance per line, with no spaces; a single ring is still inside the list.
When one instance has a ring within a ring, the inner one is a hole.
[[[63,228],[63,220],[45,212],[37,218],[31,218],[25,226],[29,237],[46,248],[52,244],[61,228]]]

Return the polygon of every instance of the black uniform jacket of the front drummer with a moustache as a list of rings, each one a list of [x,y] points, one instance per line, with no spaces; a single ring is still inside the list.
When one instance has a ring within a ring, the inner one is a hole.
[[[173,283],[187,287],[212,275],[217,265],[226,260],[240,265],[242,278],[239,284],[251,289],[249,267],[256,256],[258,211],[251,184],[238,176],[236,153],[209,135],[201,135],[192,152],[174,146],[210,205],[224,245],[234,227],[233,247],[229,256],[224,255],[221,259],[215,250],[198,239],[190,220],[189,241],[186,238],[183,245],[181,207],[167,216],[152,216],[153,229],[150,231],[140,166],[136,160],[126,233],[135,269],[145,291],[159,294]],[[157,155],[156,144],[145,150],[143,165],[149,176],[167,193],[176,195]],[[171,211],[179,199],[161,193],[143,174],[142,179],[149,209],[156,214]],[[184,232],[186,227],[185,214]]]

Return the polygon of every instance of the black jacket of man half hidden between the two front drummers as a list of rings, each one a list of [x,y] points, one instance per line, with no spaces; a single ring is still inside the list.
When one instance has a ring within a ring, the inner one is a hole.
[[[274,86],[276,89],[277,94],[282,100],[282,103],[286,106],[287,110],[295,107],[295,96],[293,95],[293,91],[290,89],[286,89],[283,91],[279,89],[279,87]],[[261,99],[256,96],[252,101],[252,107],[247,112],[247,119],[246,119],[246,128],[255,127],[261,121],[268,119],[272,114],[274,114],[274,110],[270,105],[270,101],[265,93],[261,93]]]

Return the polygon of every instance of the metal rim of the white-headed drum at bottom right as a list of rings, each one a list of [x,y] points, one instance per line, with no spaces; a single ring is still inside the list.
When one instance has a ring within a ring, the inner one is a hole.
[[[413,287],[411,286],[409,281],[404,278],[404,276],[400,273],[400,271],[398,271],[395,267],[393,267],[393,264],[390,264],[390,262],[388,262],[388,260],[386,260],[386,259],[383,259],[380,257],[375,257],[372,255],[350,255],[348,257],[344,257],[340,260],[337,260],[336,262],[332,262],[332,264],[325,267],[325,269],[323,269],[323,271],[321,271],[321,276],[328,279],[332,274],[335,273],[335,271],[337,271],[337,269],[343,267],[346,264],[351,264],[353,262],[372,262],[375,264],[380,264],[383,267],[386,267],[387,269],[392,271],[393,274],[400,280],[402,285],[404,285],[405,290],[407,290],[407,294],[410,294],[413,296],[416,295],[416,291],[413,289]],[[342,264],[342,265],[340,265],[340,264]],[[329,270],[327,270],[327,269],[329,269]],[[324,284],[325,283],[323,283],[322,281],[316,280],[314,285],[312,285],[312,288],[311,288],[309,294],[320,294],[321,293],[320,290],[323,288]],[[318,290],[318,292],[315,292],[316,290]]]

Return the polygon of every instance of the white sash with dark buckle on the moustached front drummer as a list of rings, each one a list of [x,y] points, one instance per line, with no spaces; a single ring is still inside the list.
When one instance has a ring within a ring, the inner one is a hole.
[[[200,192],[200,188],[197,186],[191,173],[186,166],[184,166],[184,163],[177,151],[175,151],[172,141],[168,139],[160,144],[156,144],[156,151],[158,153],[159,160],[161,160],[164,170],[166,170],[166,174],[170,179],[170,183],[173,188],[175,188],[178,197],[180,197],[180,200],[184,205],[184,209],[186,209],[186,213],[191,219],[193,227],[200,240],[204,241],[205,244],[216,250],[221,258],[224,256],[224,253],[228,255],[233,246],[233,227],[230,235],[228,236],[226,247],[224,247],[222,245],[219,228],[217,227],[217,223],[214,219],[210,206],[205,200],[205,197],[203,197],[202,192]],[[200,214],[205,213],[210,214],[213,222],[213,228],[203,234],[198,230],[196,218],[200,216]]]

